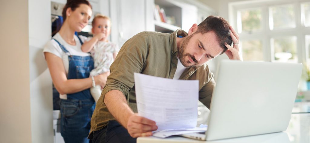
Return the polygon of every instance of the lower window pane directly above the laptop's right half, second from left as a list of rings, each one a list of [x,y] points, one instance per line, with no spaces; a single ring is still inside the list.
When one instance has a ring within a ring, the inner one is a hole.
[[[298,62],[296,36],[271,38],[271,46],[274,49],[275,61]]]

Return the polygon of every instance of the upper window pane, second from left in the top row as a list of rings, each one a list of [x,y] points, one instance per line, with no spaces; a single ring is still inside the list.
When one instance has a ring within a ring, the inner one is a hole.
[[[295,28],[295,14],[293,5],[269,7],[270,30]]]

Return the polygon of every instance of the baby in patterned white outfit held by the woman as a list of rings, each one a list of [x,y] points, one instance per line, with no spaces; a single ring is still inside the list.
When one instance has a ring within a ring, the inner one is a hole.
[[[94,58],[95,69],[90,73],[90,77],[94,79],[93,77],[96,75],[102,73],[109,74],[110,65],[113,63],[119,47],[117,44],[107,40],[111,33],[111,20],[108,16],[97,14],[92,21],[92,26],[91,32],[94,36],[86,39],[82,45],[82,51],[90,52]],[[96,103],[101,95],[101,89],[100,85],[95,85],[93,80],[91,95]]]

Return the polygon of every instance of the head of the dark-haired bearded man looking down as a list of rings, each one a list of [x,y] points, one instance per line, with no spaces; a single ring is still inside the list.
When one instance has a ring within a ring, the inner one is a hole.
[[[194,24],[179,46],[179,59],[185,67],[195,67],[223,54],[231,44],[229,24],[219,16],[209,16]]]

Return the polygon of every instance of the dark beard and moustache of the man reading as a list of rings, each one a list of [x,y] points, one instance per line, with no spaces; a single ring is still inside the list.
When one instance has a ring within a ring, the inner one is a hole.
[[[185,39],[183,40],[182,44],[180,45],[179,48],[179,59],[181,64],[186,67],[186,68],[190,68],[190,67],[197,67],[198,61],[195,59],[195,57],[193,55],[190,55],[189,53],[184,54],[184,50],[185,48],[188,46],[188,42],[189,40],[193,37],[194,34],[189,35],[188,37],[185,37]],[[195,62],[194,65],[189,65],[192,64],[190,61],[186,61],[185,58],[186,57],[192,58],[192,60]]]

